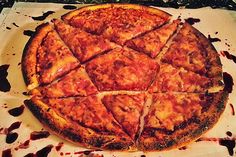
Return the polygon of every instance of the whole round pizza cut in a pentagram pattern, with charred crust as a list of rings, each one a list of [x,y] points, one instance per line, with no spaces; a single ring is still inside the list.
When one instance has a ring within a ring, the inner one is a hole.
[[[91,5],[43,23],[21,65],[29,110],[85,148],[182,147],[217,123],[228,99],[210,41],[141,5]]]

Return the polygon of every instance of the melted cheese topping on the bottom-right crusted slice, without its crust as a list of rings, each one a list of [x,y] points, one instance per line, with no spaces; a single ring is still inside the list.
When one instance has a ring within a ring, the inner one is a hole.
[[[201,100],[198,94],[156,94],[153,104],[145,117],[145,127],[174,127],[201,113]]]

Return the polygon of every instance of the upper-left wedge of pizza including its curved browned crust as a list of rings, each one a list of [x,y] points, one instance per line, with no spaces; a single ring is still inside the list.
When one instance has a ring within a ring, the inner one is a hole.
[[[36,28],[22,57],[22,71],[28,89],[48,84],[79,65],[79,61],[48,23]]]

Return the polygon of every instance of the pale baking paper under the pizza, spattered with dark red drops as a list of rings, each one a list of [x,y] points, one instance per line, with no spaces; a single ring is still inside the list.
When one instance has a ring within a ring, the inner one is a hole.
[[[81,7],[82,5],[77,5]],[[195,23],[193,26],[199,29],[204,35],[219,38],[220,42],[214,42],[213,45],[217,51],[228,51],[233,55],[236,55],[236,12],[227,11],[223,9],[172,9],[172,8],[160,8],[177,18],[186,19],[189,17],[198,18],[200,22]],[[54,14],[49,15],[44,21],[34,21],[30,16],[40,16],[46,11],[55,11]],[[68,12],[63,9],[63,4],[52,3],[15,3],[11,10],[8,12],[6,18],[3,16],[3,20],[0,28],[0,65],[9,64],[8,77],[11,84],[11,90],[9,92],[0,92],[0,154],[3,150],[11,149],[13,156],[24,156],[28,153],[35,153],[41,148],[52,144],[54,147],[48,156],[80,156],[76,152],[87,150],[82,147],[78,147],[70,142],[64,141],[60,137],[51,134],[48,138],[40,139],[36,141],[30,141],[29,148],[18,149],[16,147],[20,143],[29,139],[30,133],[33,131],[45,130],[41,123],[31,114],[31,112],[25,108],[22,115],[19,117],[13,117],[8,113],[9,109],[18,107],[23,104],[23,101],[27,99],[22,93],[26,91],[23,77],[21,74],[21,56],[25,44],[29,40],[29,37],[24,35],[24,30],[33,30],[42,22],[50,21],[52,18],[60,18],[61,15]],[[14,25],[15,24],[15,25]],[[19,27],[17,27],[17,26]],[[7,29],[8,27],[8,29]],[[10,29],[9,29],[10,28]],[[220,53],[219,53],[220,55]],[[223,63],[223,71],[229,73],[236,83],[236,63],[220,55]],[[232,137],[236,137],[236,116],[232,115],[232,106],[236,109],[236,86],[233,86],[233,91],[229,96],[229,100],[226,106],[226,110],[220,118],[216,126],[207,132],[203,137],[208,138],[224,138],[227,137],[226,132],[232,132]],[[8,128],[13,122],[20,121],[21,126],[19,129],[14,130],[19,134],[17,140],[12,144],[5,142],[6,135],[3,133],[4,128]],[[63,142],[62,148],[57,151],[56,147],[58,143]],[[236,148],[233,150],[234,155]],[[187,145],[184,150],[173,149],[163,152],[111,152],[111,151],[95,151],[94,154],[100,154],[108,157],[140,157],[141,155],[150,157],[205,157],[205,156],[229,156],[226,147],[218,144],[217,141],[201,141],[193,142]],[[91,154],[90,154],[91,156]]]

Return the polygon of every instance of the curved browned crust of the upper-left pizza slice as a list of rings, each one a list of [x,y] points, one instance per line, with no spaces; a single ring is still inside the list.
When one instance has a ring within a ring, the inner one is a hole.
[[[52,30],[49,23],[43,23],[36,28],[36,32],[27,42],[22,59],[21,69],[27,89],[31,90],[39,85],[36,64],[37,64],[37,50],[44,37]]]

